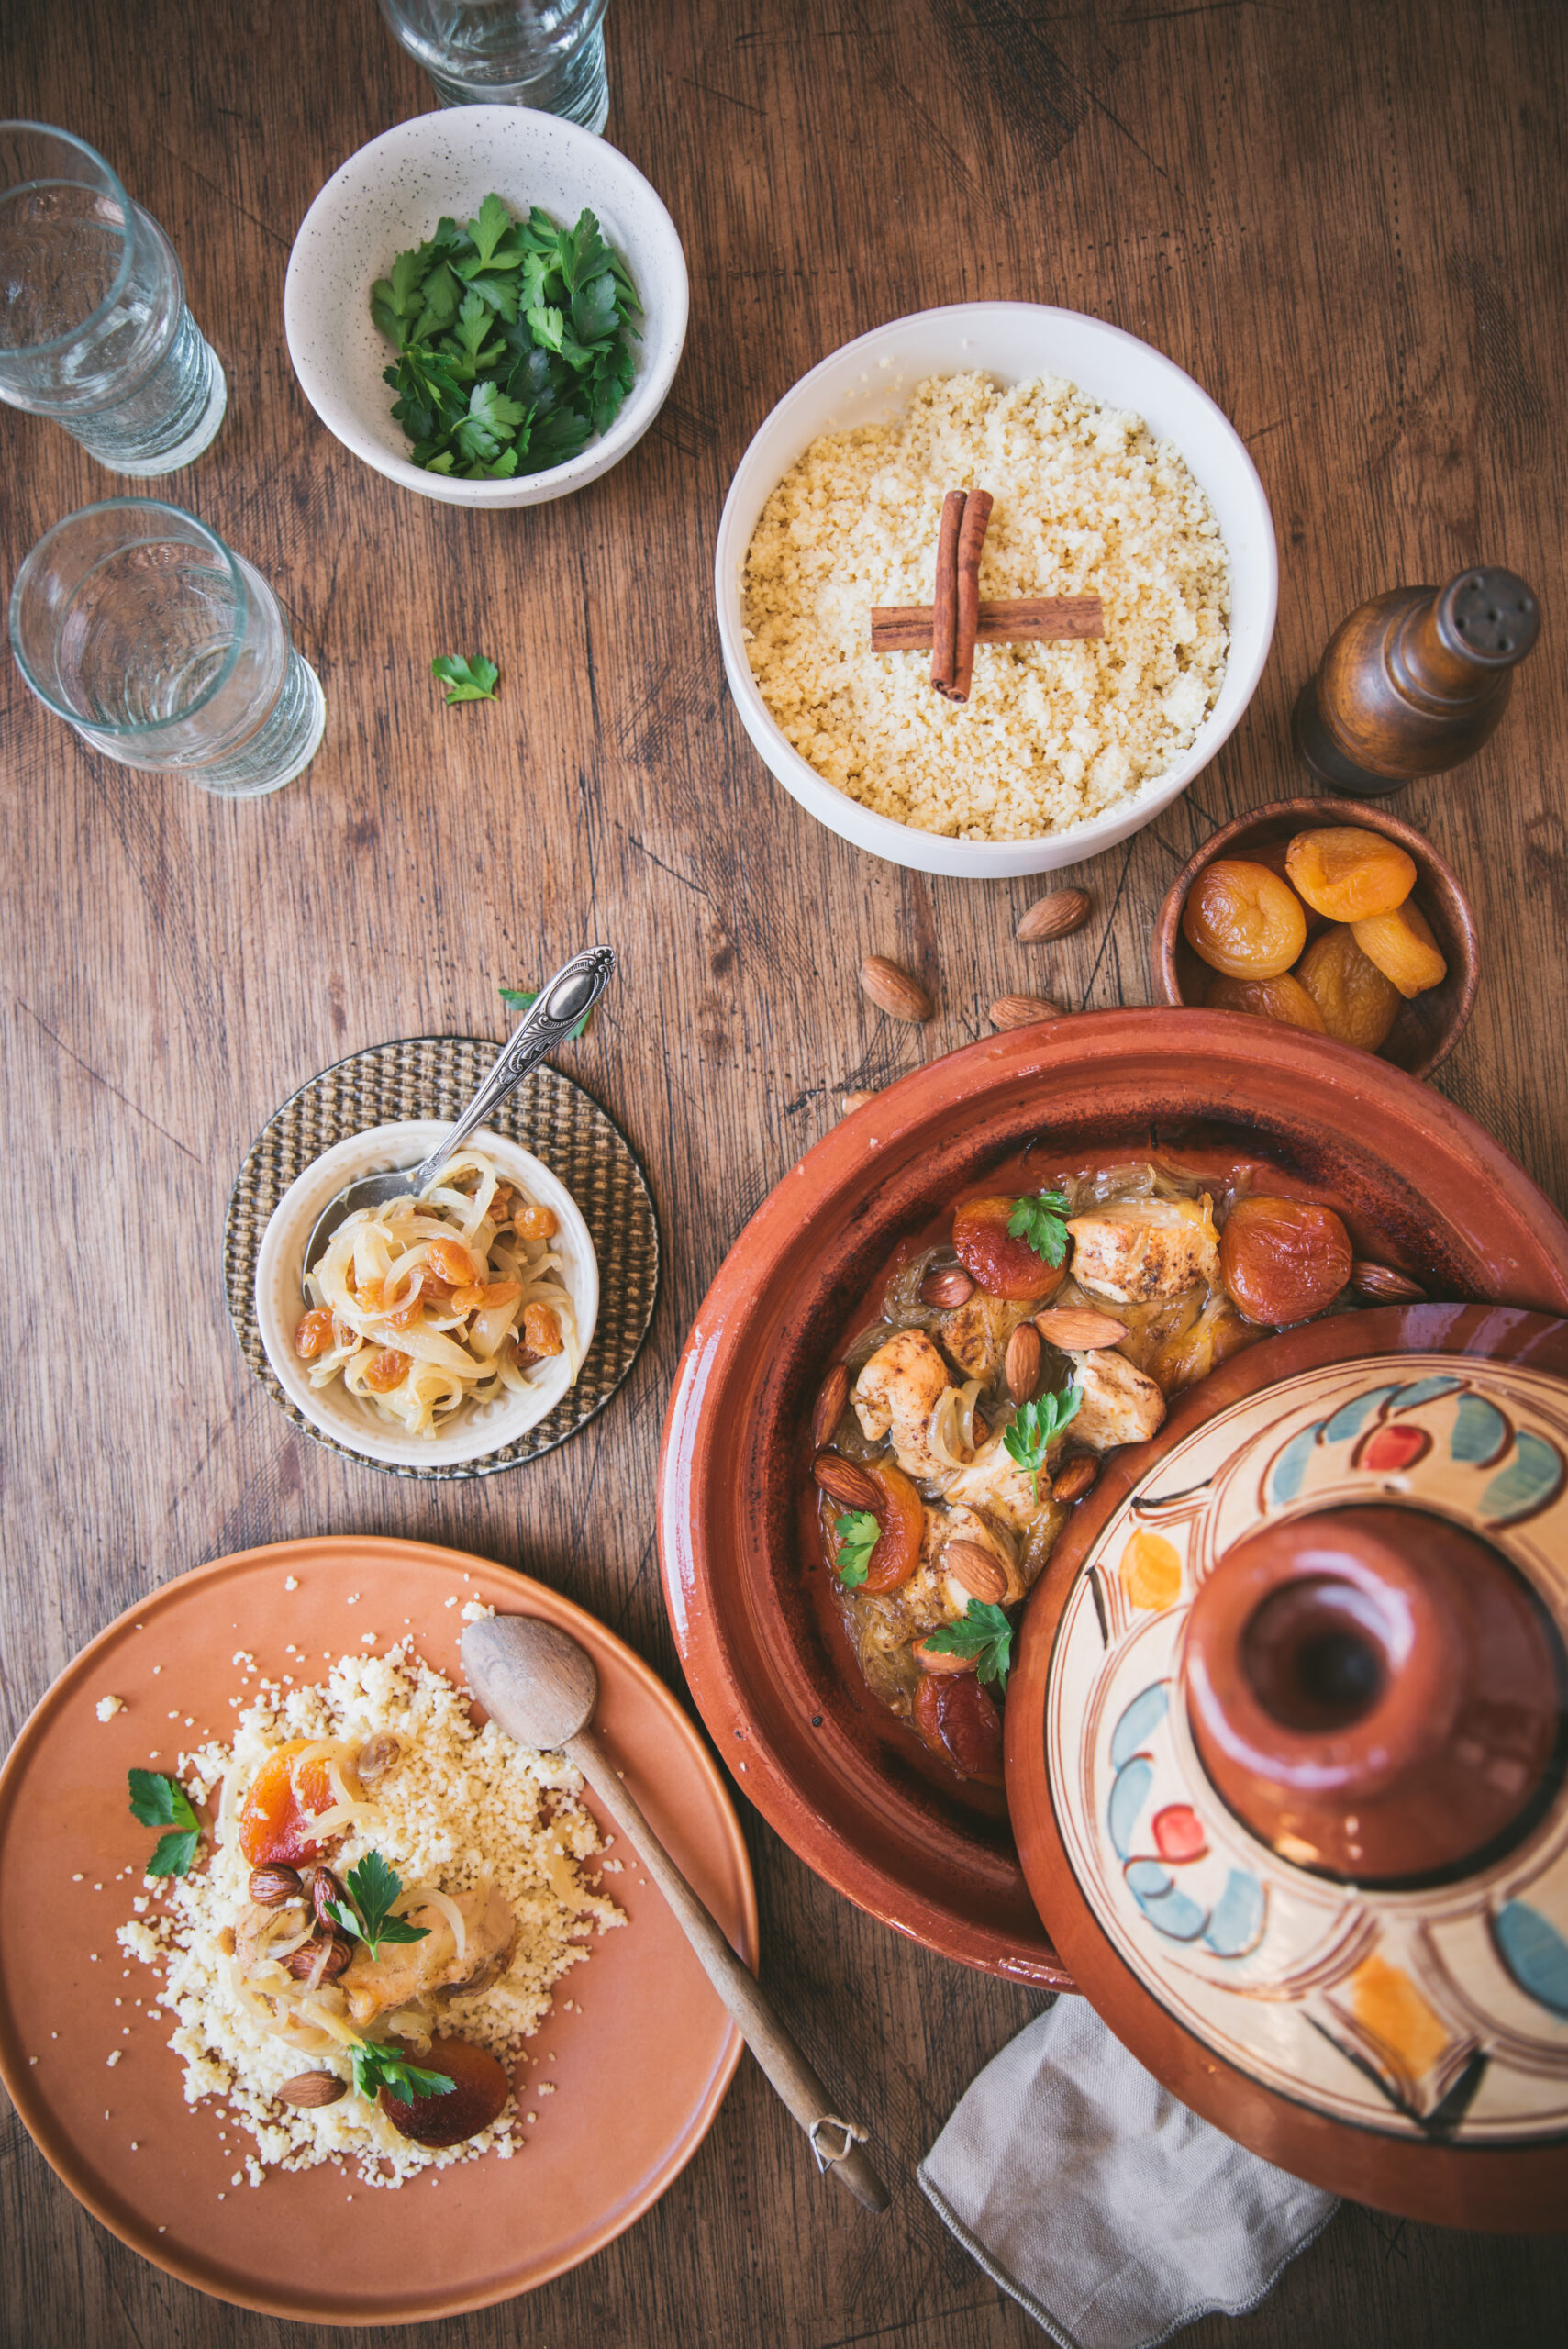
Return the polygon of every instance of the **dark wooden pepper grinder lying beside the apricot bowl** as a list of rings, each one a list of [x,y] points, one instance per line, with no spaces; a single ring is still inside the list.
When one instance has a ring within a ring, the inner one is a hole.
[[[1540,604],[1498,566],[1460,571],[1441,592],[1373,597],[1336,627],[1300,688],[1300,761],[1352,799],[1441,775],[1481,749],[1537,634]]]

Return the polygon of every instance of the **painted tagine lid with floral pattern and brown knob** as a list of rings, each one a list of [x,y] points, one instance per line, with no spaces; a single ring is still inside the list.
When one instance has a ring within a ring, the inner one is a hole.
[[[1385,1353],[1373,1320],[1420,1315],[1345,1315],[1277,1384],[1305,1332],[1228,1365],[1052,1567],[1014,1825],[1185,2102],[1385,2208],[1561,2225],[1568,1330]]]

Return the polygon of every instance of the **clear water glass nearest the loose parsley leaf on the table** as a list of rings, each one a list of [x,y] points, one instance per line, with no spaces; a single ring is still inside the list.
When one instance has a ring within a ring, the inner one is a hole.
[[[291,782],[326,726],[263,576],[160,498],[85,505],[38,540],[12,587],[12,653],[82,742],[225,799]]]

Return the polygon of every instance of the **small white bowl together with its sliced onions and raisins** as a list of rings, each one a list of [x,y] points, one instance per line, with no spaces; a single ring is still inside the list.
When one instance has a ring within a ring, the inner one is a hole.
[[[455,1468],[516,1442],[575,1384],[599,1315],[599,1261],[577,1203],[530,1151],[488,1128],[427,1207],[411,1217],[394,1203],[373,1210],[373,1229],[364,1217],[340,1226],[305,1283],[322,1210],[361,1174],[420,1165],[444,1132],[444,1120],[404,1118],[336,1142],[289,1184],[256,1257],[256,1322],[289,1402],[383,1468]],[[500,1229],[495,1212],[479,1219],[484,1198],[500,1200]],[[465,1266],[469,1287],[439,1278]],[[549,1341],[554,1327],[559,1353],[528,1344],[530,1304],[547,1315],[535,1334]],[[401,1325],[385,1311],[404,1313]],[[300,1332],[307,1315],[317,1318]],[[300,1353],[300,1337],[315,1351]]]

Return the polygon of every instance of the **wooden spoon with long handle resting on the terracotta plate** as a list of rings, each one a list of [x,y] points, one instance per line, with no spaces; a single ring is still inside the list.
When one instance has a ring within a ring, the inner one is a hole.
[[[810,2138],[817,2168],[831,2168],[866,2210],[885,2210],[887,2187],[859,2149],[854,2131],[833,2112],[829,2091],[664,1851],[589,1729],[599,1701],[594,1658],[554,1623],[533,1616],[481,1616],[462,1633],[462,1670],[479,1703],[507,1736],[540,1752],[563,1752],[577,1764],[615,1825],[636,1846],[697,1952],[702,1971],[730,2008],[735,2027]]]

